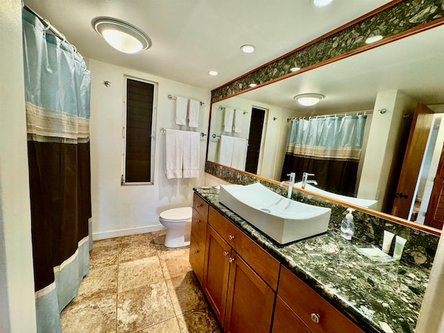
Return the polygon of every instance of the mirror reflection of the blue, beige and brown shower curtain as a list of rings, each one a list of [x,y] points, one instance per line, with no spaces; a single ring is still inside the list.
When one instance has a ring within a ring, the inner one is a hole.
[[[281,180],[290,172],[296,172],[296,179],[303,172],[314,173],[319,188],[355,196],[366,117],[293,119]]]

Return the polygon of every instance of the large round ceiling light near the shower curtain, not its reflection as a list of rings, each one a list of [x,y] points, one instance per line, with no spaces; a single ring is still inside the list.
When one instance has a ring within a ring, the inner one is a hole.
[[[102,18],[92,25],[108,44],[123,53],[136,53],[151,46],[148,36],[126,22]]]

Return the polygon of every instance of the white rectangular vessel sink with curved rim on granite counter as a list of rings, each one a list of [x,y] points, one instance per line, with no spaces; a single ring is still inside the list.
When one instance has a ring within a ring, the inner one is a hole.
[[[300,203],[253,185],[221,185],[219,201],[279,244],[327,231],[332,210]]]

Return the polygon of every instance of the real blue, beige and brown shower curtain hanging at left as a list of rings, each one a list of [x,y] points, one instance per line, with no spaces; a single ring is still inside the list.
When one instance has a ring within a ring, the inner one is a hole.
[[[37,332],[61,332],[89,271],[90,74],[25,8],[22,26]]]

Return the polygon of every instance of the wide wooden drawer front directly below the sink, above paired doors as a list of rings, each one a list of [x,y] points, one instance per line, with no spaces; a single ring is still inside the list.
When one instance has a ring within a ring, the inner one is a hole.
[[[256,273],[273,289],[278,287],[279,266],[278,260],[273,258],[263,248],[257,245],[244,232],[241,232],[228,219],[225,219],[213,207],[208,212],[208,223],[230,244],[237,253],[253,268]]]

